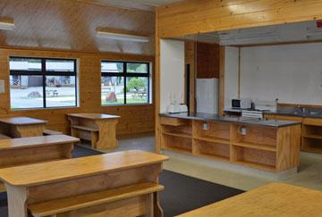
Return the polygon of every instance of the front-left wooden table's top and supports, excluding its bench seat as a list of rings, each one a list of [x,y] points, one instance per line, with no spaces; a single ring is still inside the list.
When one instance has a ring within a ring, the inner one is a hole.
[[[9,217],[27,217],[28,206],[32,204],[135,183],[157,183],[162,163],[166,160],[168,157],[164,155],[133,150],[0,169],[0,179],[7,189]],[[154,216],[162,216],[157,195],[153,204]],[[121,210],[124,216],[129,214],[127,209]],[[92,216],[95,212],[102,210],[90,211]],[[83,213],[73,214],[68,216],[84,216]]]

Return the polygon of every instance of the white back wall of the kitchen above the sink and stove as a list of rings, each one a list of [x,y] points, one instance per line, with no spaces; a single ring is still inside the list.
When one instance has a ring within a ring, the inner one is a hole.
[[[225,55],[228,78],[235,58]],[[236,75],[236,77],[238,77]],[[229,81],[235,83],[236,79]],[[228,87],[229,88],[229,87]],[[226,90],[228,97],[231,89]],[[226,94],[225,93],[225,94]],[[322,104],[322,43],[244,47],[241,97],[290,104]]]

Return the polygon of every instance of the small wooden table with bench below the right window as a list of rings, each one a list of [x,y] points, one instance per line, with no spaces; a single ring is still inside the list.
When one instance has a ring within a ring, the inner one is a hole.
[[[100,113],[69,113],[73,137],[88,139],[93,148],[118,147],[116,124],[120,116]]]

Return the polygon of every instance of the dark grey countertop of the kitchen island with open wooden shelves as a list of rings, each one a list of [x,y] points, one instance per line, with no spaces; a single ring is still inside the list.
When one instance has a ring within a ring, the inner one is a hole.
[[[217,115],[211,113],[160,113],[162,117],[168,118],[181,118],[187,120],[197,120],[197,121],[223,121],[231,122],[242,125],[258,125],[263,127],[272,127],[272,128],[283,128],[292,125],[301,124],[300,121],[279,121],[279,120],[263,120],[257,118],[246,118],[240,116],[231,116],[231,115]]]

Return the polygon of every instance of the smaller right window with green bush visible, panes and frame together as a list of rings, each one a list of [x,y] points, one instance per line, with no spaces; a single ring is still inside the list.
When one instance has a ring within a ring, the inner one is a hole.
[[[101,101],[111,104],[150,103],[149,63],[101,63]]]

